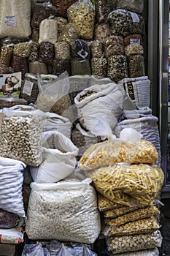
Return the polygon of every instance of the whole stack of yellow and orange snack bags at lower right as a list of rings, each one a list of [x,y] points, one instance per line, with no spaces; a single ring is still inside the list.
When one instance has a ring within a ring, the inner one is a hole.
[[[114,209],[103,208],[102,233],[114,255],[157,248],[162,241],[154,206],[164,180],[161,167],[155,165],[158,152],[147,140],[129,141],[98,143],[80,159],[80,169],[103,198],[112,202]]]

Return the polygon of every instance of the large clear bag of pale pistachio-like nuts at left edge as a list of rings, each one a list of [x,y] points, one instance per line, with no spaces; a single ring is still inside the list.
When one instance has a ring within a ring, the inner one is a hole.
[[[42,162],[42,115],[39,110],[4,108],[1,118],[1,157],[38,166]]]

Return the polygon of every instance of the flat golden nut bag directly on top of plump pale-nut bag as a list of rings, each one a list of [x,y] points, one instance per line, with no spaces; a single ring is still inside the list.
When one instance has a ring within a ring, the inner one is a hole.
[[[152,233],[158,230],[160,226],[155,217],[139,219],[134,222],[128,222],[120,227],[105,226],[102,233],[105,236],[125,236],[142,233]]]

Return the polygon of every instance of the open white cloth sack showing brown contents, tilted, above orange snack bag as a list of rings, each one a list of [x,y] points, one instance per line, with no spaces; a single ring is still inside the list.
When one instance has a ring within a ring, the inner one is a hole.
[[[123,93],[114,82],[95,84],[77,94],[74,103],[82,127],[93,133],[100,124],[95,135],[108,136],[107,127],[114,129],[122,113]]]

